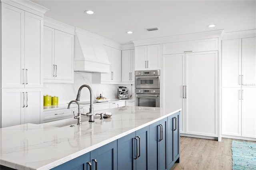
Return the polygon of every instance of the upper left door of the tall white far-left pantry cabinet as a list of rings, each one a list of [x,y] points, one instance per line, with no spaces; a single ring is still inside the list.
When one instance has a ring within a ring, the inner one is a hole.
[[[24,87],[24,11],[2,5],[2,87]]]

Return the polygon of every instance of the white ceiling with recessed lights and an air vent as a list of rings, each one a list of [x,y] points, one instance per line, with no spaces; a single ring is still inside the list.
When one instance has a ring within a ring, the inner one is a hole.
[[[224,29],[256,29],[255,0],[34,0],[49,8],[45,16],[120,44],[132,40]],[[93,10],[93,15],[84,14]],[[209,24],[216,24],[208,28]],[[147,32],[145,28],[158,27]],[[134,32],[129,35],[127,31]]]

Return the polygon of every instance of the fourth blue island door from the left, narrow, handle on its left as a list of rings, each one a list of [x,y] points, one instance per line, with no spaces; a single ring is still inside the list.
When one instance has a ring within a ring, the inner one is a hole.
[[[149,169],[149,127],[141,128],[136,131],[136,170]]]

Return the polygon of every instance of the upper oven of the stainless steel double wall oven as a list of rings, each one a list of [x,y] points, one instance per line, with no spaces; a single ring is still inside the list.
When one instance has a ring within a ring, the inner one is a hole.
[[[160,70],[135,71],[135,88],[160,88]]]

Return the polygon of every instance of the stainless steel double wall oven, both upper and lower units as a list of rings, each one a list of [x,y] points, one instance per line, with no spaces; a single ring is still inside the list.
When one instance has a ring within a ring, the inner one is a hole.
[[[135,105],[160,107],[160,70],[135,71]]]

